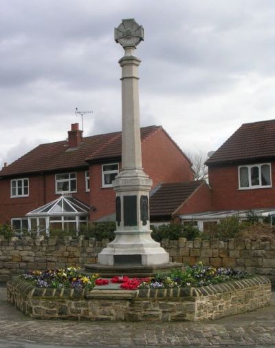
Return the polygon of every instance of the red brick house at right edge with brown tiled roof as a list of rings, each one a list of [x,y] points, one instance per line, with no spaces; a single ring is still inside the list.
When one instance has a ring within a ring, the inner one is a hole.
[[[275,214],[275,120],[245,123],[208,158],[211,200],[201,214],[186,214],[200,222],[219,221],[248,210]],[[201,227],[202,229],[202,227]]]

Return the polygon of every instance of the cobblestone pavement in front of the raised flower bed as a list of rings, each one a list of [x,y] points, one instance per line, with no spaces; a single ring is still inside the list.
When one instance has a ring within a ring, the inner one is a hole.
[[[31,320],[0,287],[0,348],[275,347],[275,293],[269,307],[203,323]]]

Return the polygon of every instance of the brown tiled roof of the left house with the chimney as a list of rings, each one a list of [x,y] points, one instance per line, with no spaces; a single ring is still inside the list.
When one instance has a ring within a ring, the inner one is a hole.
[[[162,127],[151,125],[140,128],[141,140],[148,139]],[[65,170],[87,166],[87,161],[100,161],[121,156],[121,132],[99,134],[83,138],[76,150],[69,150],[67,141],[42,144],[3,167],[0,176],[20,175],[51,170]]]

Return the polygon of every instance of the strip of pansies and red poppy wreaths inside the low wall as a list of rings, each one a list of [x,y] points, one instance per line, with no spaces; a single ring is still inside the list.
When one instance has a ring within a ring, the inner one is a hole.
[[[224,283],[234,279],[251,277],[243,271],[235,271],[230,268],[215,268],[203,266],[201,262],[192,267],[186,267],[184,271],[173,270],[170,274],[157,274],[146,278],[129,278],[128,276],[114,276],[110,280],[99,278],[98,274],[83,276],[75,267],[67,269],[48,270],[45,272],[33,271],[23,274],[25,280],[29,280],[36,287],[45,288],[71,288],[93,289],[95,285],[107,285],[118,283],[122,289],[165,289],[173,287],[201,287]]]

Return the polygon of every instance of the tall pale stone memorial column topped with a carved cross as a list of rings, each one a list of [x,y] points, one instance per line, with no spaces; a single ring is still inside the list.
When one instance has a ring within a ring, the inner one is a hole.
[[[142,170],[140,105],[136,45],[144,39],[142,25],[123,19],[115,28],[115,41],[124,48],[122,67],[122,170],[113,181],[116,194],[115,240],[98,254],[109,266],[148,266],[169,263],[169,254],[151,238],[149,192],[152,181]]]

